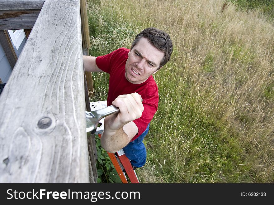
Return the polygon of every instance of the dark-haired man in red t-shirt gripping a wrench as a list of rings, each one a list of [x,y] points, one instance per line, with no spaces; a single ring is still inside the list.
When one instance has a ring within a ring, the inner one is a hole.
[[[110,74],[107,106],[120,109],[118,114],[105,118],[101,145],[112,153],[123,148],[134,169],[145,164],[143,139],[158,109],[158,87],[152,74],[170,60],[172,49],[170,36],[151,27],[135,37],[130,49],[119,48],[105,56],[83,56],[85,71]]]

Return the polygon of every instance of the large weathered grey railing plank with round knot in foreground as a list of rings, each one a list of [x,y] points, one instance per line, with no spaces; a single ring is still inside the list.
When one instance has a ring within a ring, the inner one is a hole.
[[[79,1],[46,0],[0,96],[0,183],[88,183]]]

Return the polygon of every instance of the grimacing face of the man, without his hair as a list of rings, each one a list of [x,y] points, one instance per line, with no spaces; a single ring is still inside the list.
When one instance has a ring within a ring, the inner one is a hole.
[[[125,78],[133,84],[143,83],[151,74],[156,73],[164,57],[164,53],[150,44],[146,38],[141,38],[128,55]]]

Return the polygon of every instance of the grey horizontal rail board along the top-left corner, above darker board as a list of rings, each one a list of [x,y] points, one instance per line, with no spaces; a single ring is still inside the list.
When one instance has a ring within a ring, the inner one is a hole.
[[[45,0],[1,0],[0,10],[41,10]]]

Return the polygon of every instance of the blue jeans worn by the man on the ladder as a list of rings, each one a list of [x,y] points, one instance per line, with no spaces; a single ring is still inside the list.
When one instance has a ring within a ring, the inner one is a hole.
[[[136,168],[144,166],[147,159],[147,151],[143,139],[149,132],[149,124],[147,129],[139,137],[123,148],[125,156],[130,160],[131,165]]]

